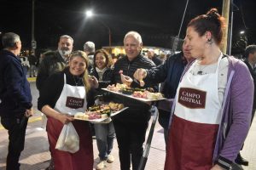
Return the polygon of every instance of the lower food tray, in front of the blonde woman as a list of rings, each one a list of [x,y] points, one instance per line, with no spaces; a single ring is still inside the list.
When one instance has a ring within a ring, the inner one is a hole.
[[[88,111],[78,112],[74,115],[74,119],[89,121],[89,122],[103,122],[111,116],[115,116],[128,107],[123,104],[110,102],[109,104],[93,105]]]

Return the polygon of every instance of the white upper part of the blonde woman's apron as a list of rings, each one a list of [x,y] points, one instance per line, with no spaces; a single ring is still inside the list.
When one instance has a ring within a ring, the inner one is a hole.
[[[67,84],[66,74],[64,74],[64,87],[55,104],[55,111],[73,116],[77,112],[86,111],[86,108],[87,101],[84,87]]]

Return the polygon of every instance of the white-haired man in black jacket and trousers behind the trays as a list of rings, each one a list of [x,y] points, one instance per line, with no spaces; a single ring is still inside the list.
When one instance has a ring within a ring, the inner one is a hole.
[[[150,69],[154,63],[141,55],[143,47],[142,37],[136,31],[125,35],[125,57],[117,60],[113,69],[113,83],[122,83],[119,72],[124,76],[132,77],[137,68]],[[150,84],[146,84],[145,88]],[[131,82],[131,88],[139,88],[137,82]],[[156,86],[155,86],[156,87]],[[129,109],[113,117],[113,126],[119,144],[119,161],[121,170],[137,170],[141,156],[143,156],[143,142],[150,119],[150,105],[135,99],[114,95],[114,101],[123,103]]]

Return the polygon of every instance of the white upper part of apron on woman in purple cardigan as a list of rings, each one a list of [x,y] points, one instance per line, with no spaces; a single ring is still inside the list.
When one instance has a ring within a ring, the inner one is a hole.
[[[174,114],[191,122],[219,124],[221,103],[218,99],[218,69],[215,73],[193,75],[190,66],[177,88],[178,97]],[[207,113],[207,114],[206,114]]]

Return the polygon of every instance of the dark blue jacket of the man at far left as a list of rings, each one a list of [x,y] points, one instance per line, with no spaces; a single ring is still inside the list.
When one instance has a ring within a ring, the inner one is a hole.
[[[32,107],[32,94],[21,60],[0,52],[0,116],[20,116]]]

